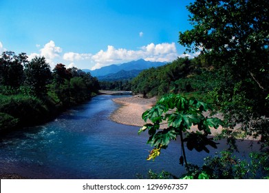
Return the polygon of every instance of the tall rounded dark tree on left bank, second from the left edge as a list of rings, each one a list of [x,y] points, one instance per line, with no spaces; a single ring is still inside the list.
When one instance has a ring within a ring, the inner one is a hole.
[[[25,64],[25,83],[27,83],[36,96],[47,94],[46,85],[52,81],[50,65],[45,57],[34,57],[30,63]]]

